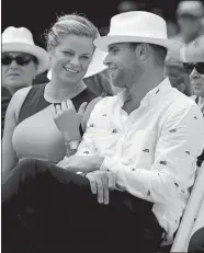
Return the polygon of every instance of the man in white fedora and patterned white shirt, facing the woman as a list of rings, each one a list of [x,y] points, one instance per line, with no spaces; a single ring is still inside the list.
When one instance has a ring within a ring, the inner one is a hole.
[[[26,205],[48,214],[20,216],[44,235],[46,250],[38,237],[31,242],[43,252],[152,253],[172,242],[204,139],[201,111],[163,77],[167,50],[181,45],[168,39],[162,18],[139,11],[113,16],[94,45],[109,51],[112,82],[125,90],[94,106],[75,156],[58,166],[27,159],[7,179],[7,245],[27,231],[16,225]]]

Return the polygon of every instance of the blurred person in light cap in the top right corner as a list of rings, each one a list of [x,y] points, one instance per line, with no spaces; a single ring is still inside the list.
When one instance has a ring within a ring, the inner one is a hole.
[[[180,32],[172,39],[189,44],[202,35],[204,19],[202,1],[181,1],[175,14]]]

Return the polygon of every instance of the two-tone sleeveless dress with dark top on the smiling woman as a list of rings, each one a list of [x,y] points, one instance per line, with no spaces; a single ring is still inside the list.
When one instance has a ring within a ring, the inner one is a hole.
[[[19,114],[19,124],[14,129],[12,143],[16,157],[33,158],[57,163],[65,153],[65,140],[52,115],[52,103],[44,99],[46,84],[32,87]],[[95,94],[84,89],[71,99],[76,111],[83,102],[90,102]]]

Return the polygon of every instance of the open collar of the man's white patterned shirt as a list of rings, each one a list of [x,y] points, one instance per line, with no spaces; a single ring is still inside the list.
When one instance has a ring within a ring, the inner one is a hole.
[[[171,83],[169,81],[169,78],[165,78],[156,88],[150,90],[141,100],[140,106],[146,107],[150,104],[152,104],[155,101],[158,101],[158,97],[161,93],[169,90],[171,87]],[[128,100],[128,93],[125,89],[121,93],[117,94],[117,99],[121,105],[123,105]]]

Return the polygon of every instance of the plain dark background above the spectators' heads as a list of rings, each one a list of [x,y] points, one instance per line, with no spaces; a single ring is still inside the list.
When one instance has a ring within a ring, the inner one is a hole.
[[[2,32],[8,26],[25,26],[38,46],[45,47],[44,32],[55,23],[57,15],[83,13],[99,28],[109,26],[111,16],[118,13],[120,0],[2,0]],[[166,20],[175,21],[179,0],[144,0],[143,10],[160,8]]]

